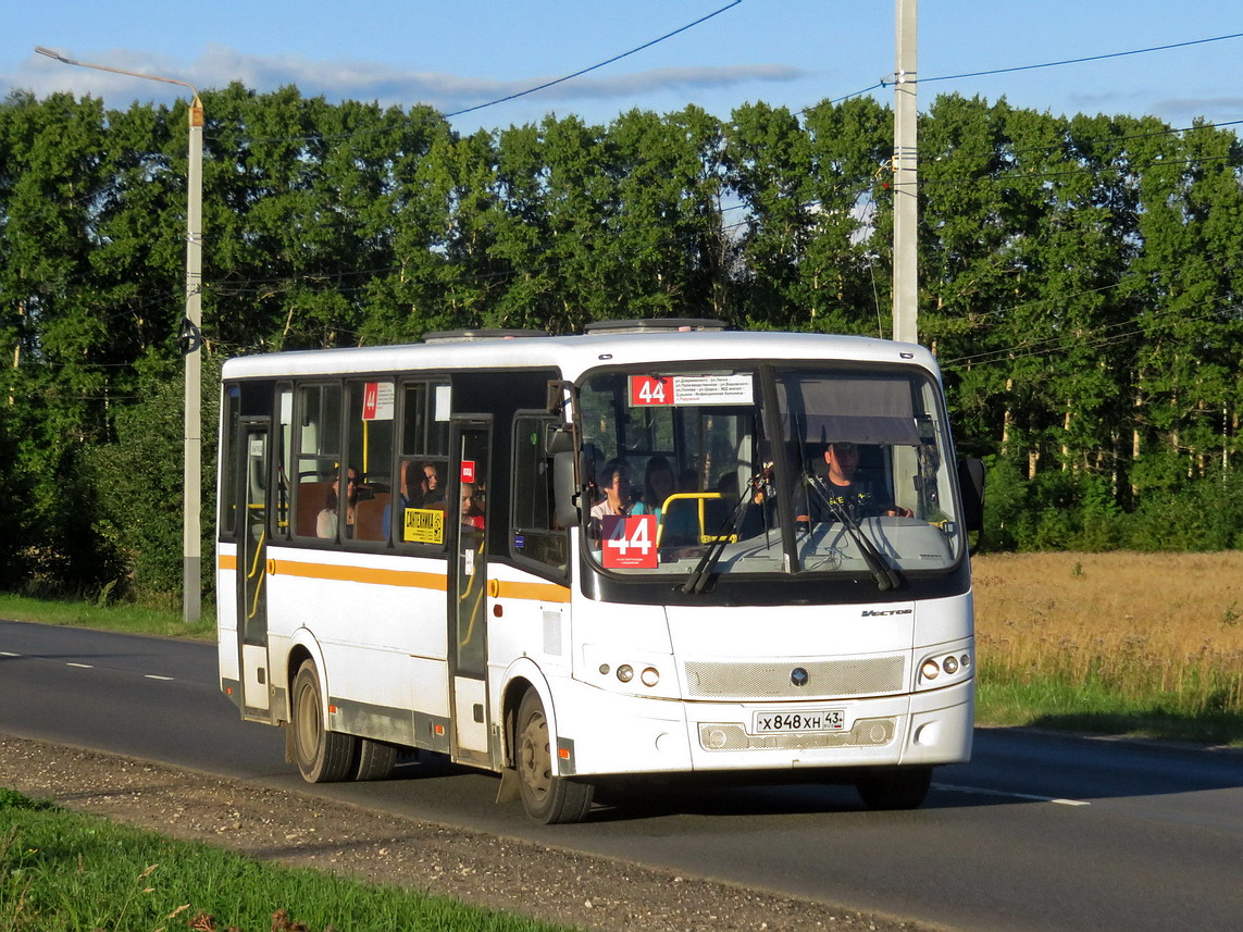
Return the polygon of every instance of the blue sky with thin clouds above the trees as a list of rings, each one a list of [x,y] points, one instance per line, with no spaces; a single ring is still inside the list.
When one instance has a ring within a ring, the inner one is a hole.
[[[35,55],[257,91],[443,112],[475,107],[590,67],[713,11],[716,16],[589,75],[452,119],[464,132],[578,114],[718,116],[748,101],[793,109],[843,97],[894,70],[894,0],[6,0],[0,93],[101,96],[111,107],[172,101],[174,87],[68,67]],[[958,91],[1053,113],[1243,119],[1243,37],[1062,67],[937,80],[1104,56],[1243,32],[1221,0],[924,0],[920,104]],[[891,102],[891,89],[873,91]]]

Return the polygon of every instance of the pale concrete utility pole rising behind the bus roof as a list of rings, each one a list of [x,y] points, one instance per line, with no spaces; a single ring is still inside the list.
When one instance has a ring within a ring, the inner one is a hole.
[[[894,14],[894,339],[919,342],[917,0]]]

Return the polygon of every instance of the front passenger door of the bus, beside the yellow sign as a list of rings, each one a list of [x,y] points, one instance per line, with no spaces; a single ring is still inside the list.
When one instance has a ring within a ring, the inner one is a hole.
[[[449,521],[454,568],[449,585],[449,715],[451,757],[488,764],[487,708],[487,501],[491,424],[455,420],[450,437],[456,477]]]

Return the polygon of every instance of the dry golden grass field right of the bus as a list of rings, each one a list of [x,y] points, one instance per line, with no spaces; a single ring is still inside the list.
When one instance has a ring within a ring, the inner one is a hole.
[[[1243,723],[1243,553],[983,554],[972,567],[984,698],[1037,685],[1068,712],[1083,711],[1065,695],[1079,692],[1115,697],[1108,711]]]

